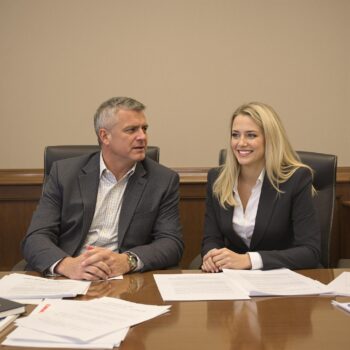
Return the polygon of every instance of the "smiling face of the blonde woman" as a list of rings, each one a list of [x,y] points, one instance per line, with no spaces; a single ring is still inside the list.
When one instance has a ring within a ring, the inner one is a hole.
[[[265,165],[265,137],[252,118],[239,114],[232,123],[231,147],[242,167]]]

